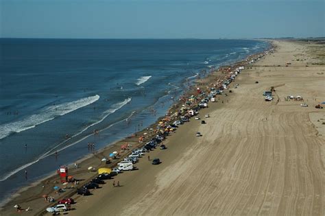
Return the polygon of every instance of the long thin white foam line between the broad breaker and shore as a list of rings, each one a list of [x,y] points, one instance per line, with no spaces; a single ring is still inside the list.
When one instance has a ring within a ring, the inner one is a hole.
[[[98,96],[98,95],[97,95]],[[94,96],[95,97],[95,96]],[[99,96],[98,96],[99,97]],[[110,109],[106,110],[104,112],[104,116],[101,117],[101,119],[99,121],[96,121],[95,123],[92,123],[91,125],[88,125],[86,128],[84,128],[82,131],[78,132],[77,134],[74,134],[73,136],[71,136],[69,139],[67,139],[66,141],[63,141],[62,143],[60,143],[59,145],[57,145],[56,147],[53,147],[51,149],[49,149],[47,152],[45,152],[44,154],[40,155],[36,160],[30,162],[30,163],[27,163],[21,167],[18,167],[12,171],[10,171],[9,173],[5,173],[4,176],[1,176],[0,178],[0,182],[4,181],[4,180],[7,180],[8,178],[10,178],[10,176],[14,175],[15,173],[23,170],[23,169],[26,169],[27,167],[29,167],[30,165],[33,165],[34,163],[37,163],[39,160],[43,159],[43,158],[46,158],[47,156],[51,156],[52,154],[55,154],[55,152],[60,152],[62,151],[63,149],[66,149],[67,147],[71,147],[72,145],[75,145],[76,143],[79,143],[80,141],[83,141],[84,139],[88,138],[89,136],[91,136],[92,134],[88,134],[88,136],[84,136],[82,137],[82,139],[79,139],[77,141],[75,141],[74,143],[71,143],[69,145],[64,145],[64,147],[58,149],[58,147],[60,147],[60,145],[62,145],[63,143],[67,143],[67,141],[71,140],[73,137],[75,136],[78,136],[80,134],[82,134],[82,132],[86,131],[88,128],[91,128],[93,127],[93,125],[97,125],[98,123],[101,123],[101,121],[104,121],[104,119],[106,119],[109,115],[111,115],[112,113],[116,112],[117,110],[121,109],[123,106],[125,106],[125,104],[128,104],[129,102],[131,101],[131,97],[125,99],[124,101],[121,101],[117,104],[114,104],[111,106]],[[132,115],[134,114],[134,112],[132,112]],[[132,116],[130,115],[130,117]],[[128,117],[128,118],[130,118]],[[121,121],[124,121],[125,119],[121,120]],[[116,123],[119,123],[121,121],[118,121]],[[112,125],[115,125],[116,123],[113,123]],[[108,126],[108,128],[110,128],[112,125]],[[106,130],[107,128],[105,128],[104,130]],[[102,130],[100,130],[102,131]]]

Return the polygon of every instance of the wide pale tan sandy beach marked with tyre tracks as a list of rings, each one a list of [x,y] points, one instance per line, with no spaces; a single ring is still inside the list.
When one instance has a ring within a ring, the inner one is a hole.
[[[147,153],[139,169],[115,176],[121,187],[107,180],[93,195],[73,195],[77,203],[65,214],[324,215],[325,110],[315,106],[325,101],[325,67],[305,42],[273,43],[276,51],[245,69],[228,97],[200,110],[206,124],[184,123],[163,142],[167,149]],[[263,91],[271,86],[274,101],[265,101]],[[309,106],[288,95],[302,96]],[[99,167],[100,158],[121,144],[84,160],[73,175],[91,178],[86,167]],[[152,165],[148,155],[162,163]],[[16,215],[12,204],[19,203],[33,209],[21,214],[40,215],[49,206],[41,194],[53,180],[22,192],[0,214]]]

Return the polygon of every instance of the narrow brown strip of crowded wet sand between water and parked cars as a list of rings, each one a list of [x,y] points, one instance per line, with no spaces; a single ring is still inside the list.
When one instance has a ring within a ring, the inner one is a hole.
[[[248,61],[256,58],[256,56],[260,56],[261,53],[265,53],[266,51],[269,51],[270,49],[273,48],[272,46],[272,43],[270,43],[268,41],[268,43],[270,44],[269,45],[269,49],[266,49],[265,51],[263,52],[259,52],[259,53],[254,53],[248,57],[246,57],[245,59],[243,60],[240,60],[240,61],[237,61],[237,62],[232,62],[231,65],[221,65],[218,69],[214,69],[214,71],[210,71],[207,73],[207,75],[205,77],[203,77],[202,79],[200,78],[200,75],[198,77],[195,78],[195,81],[194,81],[194,84],[193,86],[191,86],[190,90],[189,91],[186,91],[184,93],[182,93],[182,97],[186,97],[191,95],[193,92],[195,92],[195,89],[193,89],[194,86],[206,86],[206,85],[209,85],[208,82],[215,79],[215,77],[213,77],[213,75],[215,75],[216,77],[218,77],[218,75],[214,74],[214,73],[221,73],[221,75],[219,75],[219,79],[220,77],[226,77],[228,74],[227,72],[223,71],[223,69],[225,68],[231,68],[230,71],[232,71],[234,68],[238,67],[239,65],[245,65],[245,64],[250,64],[248,63]],[[169,107],[167,109],[167,112],[173,112],[173,110],[179,108],[180,104],[182,104],[182,101],[177,101],[175,104],[172,104],[171,107]],[[158,122],[160,121],[160,119],[163,119],[164,117],[158,117],[158,119],[152,123],[152,125],[149,125],[148,128],[155,128],[154,126],[156,126],[158,124]],[[80,168],[78,168],[77,170],[73,169],[72,168],[72,165],[68,165],[68,167],[70,168],[70,170],[72,170],[71,174],[73,175],[74,173],[75,174],[80,174],[81,173],[84,173],[86,175],[84,176],[91,176],[90,178],[93,178],[94,174],[90,174],[89,175],[89,172],[84,170],[85,167],[87,167],[88,165],[94,163],[94,160],[96,158],[100,159],[102,158],[104,155],[107,155],[108,152],[113,152],[113,151],[119,151],[121,145],[123,145],[124,143],[131,143],[132,144],[132,147],[130,148],[130,150],[128,152],[123,152],[123,154],[120,156],[120,158],[123,158],[123,156],[127,155],[130,153],[130,151],[132,149],[134,149],[135,147],[140,147],[141,145],[144,145],[145,142],[143,143],[139,143],[138,142],[138,137],[139,135],[143,134],[144,132],[146,132],[146,130],[141,130],[139,132],[136,132],[136,136],[133,137],[133,138],[125,138],[125,139],[121,139],[119,141],[115,141],[113,143],[109,143],[108,145],[106,145],[106,147],[103,147],[102,149],[99,149],[97,150],[96,152],[93,152],[93,153],[90,153],[90,154],[87,154],[86,156],[82,156],[82,158],[80,158],[79,160],[77,160],[77,163],[81,166]],[[152,134],[152,136],[154,136],[155,134]],[[147,136],[145,138],[145,141],[147,141],[148,139],[150,139],[150,136]],[[114,163],[112,163],[112,165],[116,165],[116,163],[118,162],[119,160],[114,160]],[[101,166],[102,163],[100,162],[100,160],[96,163],[96,165],[94,165],[95,167],[99,167]],[[114,167],[112,165],[108,165],[106,167]],[[82,169],[82,170],[80,170]],[[86,178],[86,179],[90,179],[89,177]],[[36,194],[34,194],[33,198],[29,198],[29,197],[24,197],[25,193],[29,193],[29,191],[39,191],[38,192],[38,195],[40,195],[38,197],[39,200],[43,200],[43,198],[41,197],[41,194],[44,193],[45,191],[49,191],[49,189],[53,188],[52,186],[54,184],[56,184],[56,181],[58,180],[58,176],[56,174],[46,174],[43,178],[41,178],[40,180],[38,180],[37,182],[33,182],[32,184],[29,184],[28,186],[26,187],[23,187],[21,189],[19,189],[19,191],[17,191],[14,195],[12,195],[12,197],[8,198],[9,200],[3,204],[3,206],[0,207],[0,210],[2,211],[3,209],[5,208],[8,208],[8,206],[10,204],[14,204],[14,203],[25,203],[23,200],[33,200],[34,199],[37,199],[36,197]],[[46,182],[53,182],[53,183],[46,183]],[[86,181],[84,181],[86,182]],[[43,185],[45,186],[43,189],[36,189],[38,187],[40,187],[40,185]],[[36,190],[35,190],[36,189]],[[70,192],[70,191],[69,191]],[[52,191],[53,193],[53,191]],[[75,191],[73,191],[73,193],[75,193]],[[71,193],[71,194],[73,194]],[[69,193],[70,194],[70,193]],[[64,196],[67,196],[67,193],[64,193]],[[61,195],[61,197],[63,197]],[[59,197],[58,197],[59,198]],[[51,206],[51,204],[47,204],[46,206]],[[33,206],[33,208],[36,210],[36,208]],[[32,213],[36,213],[34,210],[34,212]],[[43,209],[44,211],[44,209]],[[42,211],[38,212],[38,213],[41,213]]]

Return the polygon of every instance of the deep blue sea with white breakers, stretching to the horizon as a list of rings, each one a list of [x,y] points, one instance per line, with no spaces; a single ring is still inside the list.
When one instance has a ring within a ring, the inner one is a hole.
[[[89,154],[87,143],[97,150],[146,128],[165,115],[189,81],[269,44],[2,38],[0,46],[3,200]]]

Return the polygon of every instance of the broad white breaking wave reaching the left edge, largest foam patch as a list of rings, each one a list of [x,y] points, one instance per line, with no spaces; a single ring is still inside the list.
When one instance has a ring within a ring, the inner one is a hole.
[[[95,95],[64,104],[49,106],[47,108],[43,108],[43,110],[40,110],[38,114],[30,115],[21,121],[14,121],[0,125],[0,139],[3,139],[14,132],[19,133],[24,130],[35,128],[36,125],[51,121],[56,117],[66,115],[69,112],[73,112],[74,110],[88,106],[89,104],[93,104],[98,99],[99,95]]]

